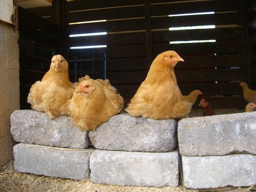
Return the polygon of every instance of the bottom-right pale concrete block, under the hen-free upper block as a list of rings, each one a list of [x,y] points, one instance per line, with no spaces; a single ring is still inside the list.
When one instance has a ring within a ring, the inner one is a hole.
[[[183,182],[186,188],[206,189],[256,184],[256,156],[182,156]]]

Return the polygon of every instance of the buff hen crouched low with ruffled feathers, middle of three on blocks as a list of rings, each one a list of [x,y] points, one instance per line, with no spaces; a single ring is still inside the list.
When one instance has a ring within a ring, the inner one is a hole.
[[[62,115],[70,115],[74,124],[85,131],[95,130],[123,109],[123,98],[116,93],[109,80],[80,78],[73,97],[61,108]]]

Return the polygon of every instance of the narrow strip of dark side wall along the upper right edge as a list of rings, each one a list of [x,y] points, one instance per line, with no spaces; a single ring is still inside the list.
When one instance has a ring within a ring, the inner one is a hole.
[[[250,37],[249,49],[251,50],[251,89],[256,90],[256,1],[249,0],[247,4],[248,36]]]

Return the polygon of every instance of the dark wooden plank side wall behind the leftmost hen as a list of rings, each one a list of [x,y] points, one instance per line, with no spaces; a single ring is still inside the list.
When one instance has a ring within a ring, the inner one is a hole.
[[[59,28],[56,24],[18,7],[20,48],[20,105],[26,102],[29,89],[49,70],[53,48],[58,48]]]

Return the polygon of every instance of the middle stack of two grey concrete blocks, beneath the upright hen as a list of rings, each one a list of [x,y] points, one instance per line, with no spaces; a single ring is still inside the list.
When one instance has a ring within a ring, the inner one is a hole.
[[[89,138],[95,183],[163,187],[179,185],[177,121],[119,114],[101,124]]]

